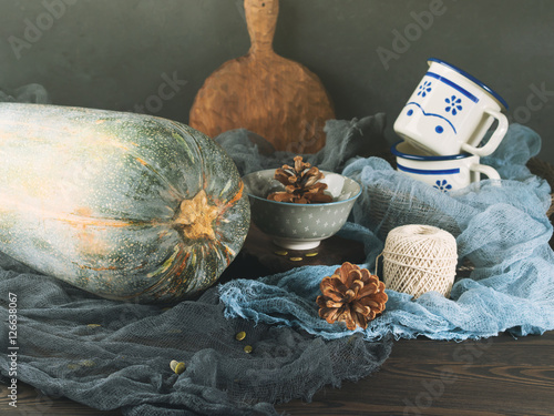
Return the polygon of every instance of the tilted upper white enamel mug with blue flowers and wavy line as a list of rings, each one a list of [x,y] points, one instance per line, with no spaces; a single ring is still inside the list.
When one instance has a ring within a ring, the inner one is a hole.
[[[428,63],[429,71],[394,122],[397,134],[430,154],[494,152],[507,131],[507,119],[501,113],[507,103],[454,65],[435,58]],[[494,133],[479,146],[494,120]]]

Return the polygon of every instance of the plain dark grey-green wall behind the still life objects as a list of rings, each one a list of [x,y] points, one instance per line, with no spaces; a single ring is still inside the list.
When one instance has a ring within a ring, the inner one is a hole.
[[[0,0],[0,88],[183,122],[205,78],[249,47],[242,0]],[[503,95],[554,163],[554,1],[280,0],[274,47],[321,78],[339,119],[386,112],[391,142],[425,59],[450,61]]]

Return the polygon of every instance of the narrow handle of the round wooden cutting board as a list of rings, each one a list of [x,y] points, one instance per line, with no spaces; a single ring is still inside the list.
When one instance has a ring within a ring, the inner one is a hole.
[[[279,0],[244,0],[244,9],[252,43],[248,53],[273,53]]]

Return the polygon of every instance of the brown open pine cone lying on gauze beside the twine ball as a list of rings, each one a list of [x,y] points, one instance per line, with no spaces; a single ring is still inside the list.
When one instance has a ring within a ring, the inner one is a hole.
[[[357,326],[367,328],[368,322],[384,311],[388,301],[379,277],[348,262],[332,276],[324,277],[319,288],[322,293],[316,300],[319,316],[329,324],[345,322],[351,331]]]

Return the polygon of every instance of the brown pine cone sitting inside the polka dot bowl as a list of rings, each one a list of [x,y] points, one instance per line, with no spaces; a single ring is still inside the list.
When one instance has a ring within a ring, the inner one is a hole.
[[[283,168],[277,169],[274,177],[285,185],[285,191],[269,194],[267,196],[268,200],[298,204],[332,201],[330,195],[324,193],[327,184],[319,182],[325,177],[324,173],[316,166],[302,162],[301,156],[295,158],[294,168],[284,164]]]

